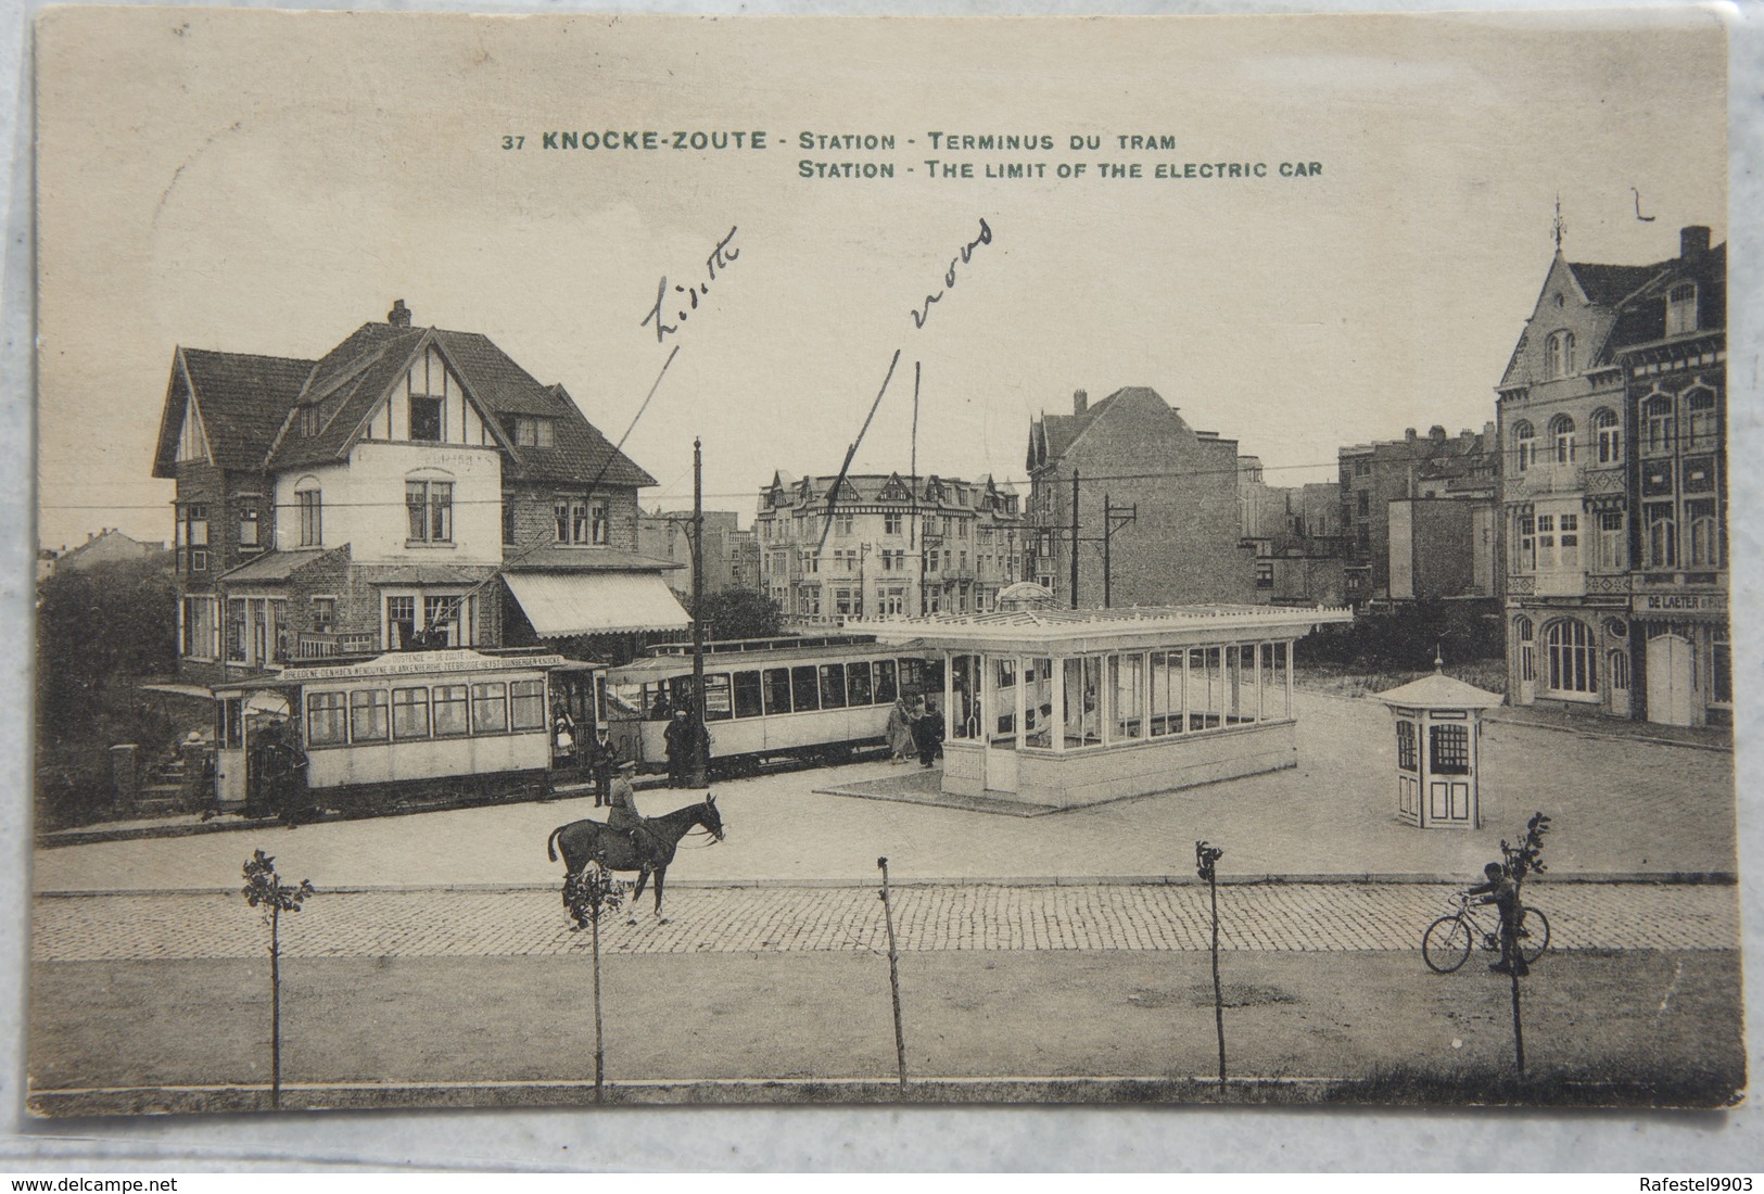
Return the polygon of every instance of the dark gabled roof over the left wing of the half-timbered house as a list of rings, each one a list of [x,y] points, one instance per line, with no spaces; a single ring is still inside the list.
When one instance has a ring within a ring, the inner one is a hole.
[[[261,469],[310,372],[309,360],[178,347],[159,420],[153,476],[176,476],[178,437],[192,400],[208,432],[210,462],[222,469]]]

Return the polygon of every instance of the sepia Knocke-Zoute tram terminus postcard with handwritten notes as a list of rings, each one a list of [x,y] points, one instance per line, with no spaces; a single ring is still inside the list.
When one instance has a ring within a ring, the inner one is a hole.
[[[35,78],[32,1113],[1743,1097],[1722,14]]]

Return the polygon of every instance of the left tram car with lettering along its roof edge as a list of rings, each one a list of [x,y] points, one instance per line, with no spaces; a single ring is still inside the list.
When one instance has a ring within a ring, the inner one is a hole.
[[[217,684],[215,802],[370,815],[543,795],[561,764],[559,714],[572,739],[591,737],[603,672],[547,651],[446,649],[302,660]]]

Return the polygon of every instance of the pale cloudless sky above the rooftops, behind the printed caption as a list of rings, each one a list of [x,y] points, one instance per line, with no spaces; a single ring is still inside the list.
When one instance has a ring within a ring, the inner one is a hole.
[[[1034,418],[1138,384],[1270,483],[1332,480],[1342,444],[1494,418],[1558,198],[1573,261],[1658,261],[1685,224],[1725,240],[1725,129],[1723,30],[1683,9],[64,9],[39,30],[39,538],[169,540],[150,471],[176,346],[316,358],[395,298],[489,335],[609,437],[630,429],[660,481],[646,504],[690,504],[700,437],[707,504],[746,522],[776,469],[838,471],[871,404],[854,469],[916,451],[921,474],[1021,481]],[[543,148],[566,131],[663,148]],[[767,145],[676,150],[674,131]],[[896,173],[803,178],[804,159]],[[1214,162],[1267,176],[1155,176]],[[986,176],[1007,164],[1044,176]],[[704,289],[658,342],[663,277]]]

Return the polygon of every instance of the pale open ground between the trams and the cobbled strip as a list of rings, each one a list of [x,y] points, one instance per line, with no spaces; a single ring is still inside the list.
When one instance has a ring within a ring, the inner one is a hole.
[[[1222,877],[1476,877],[1533,811],[1554,818],[1551,878],[1732,875],[1732,755],[1588,739],[1515,721],[1482,735],[1484,827],[1418,831],[1395,817],[1395,734],[1372,700],[1298,693],[1298,765],[1048,817],[827,795],[887,780],[886,762],[718,783],[729,840],[688,838],[669,880],[871,884],[887,855],[900,882],[1192,877],[1194,841],[1224,848]],[[646,813],[702,792],[649,790]],[[319,887],[556,884],[545,840],[603,815],[593,799],[506,804],[298,831],[37,848],[35,891],[233,891],[252,848]]]

